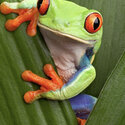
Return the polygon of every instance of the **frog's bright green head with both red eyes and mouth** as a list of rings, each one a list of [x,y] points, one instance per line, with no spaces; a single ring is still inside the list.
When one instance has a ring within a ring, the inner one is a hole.
[[[39,25],[86,44],[100,43],[102,16],[66,0],[39,0]]]

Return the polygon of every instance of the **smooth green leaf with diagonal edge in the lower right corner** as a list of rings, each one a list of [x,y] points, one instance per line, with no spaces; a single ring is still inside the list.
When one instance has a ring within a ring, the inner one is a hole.
[[[86,125],[125,125],[125,52],[106,81]]]

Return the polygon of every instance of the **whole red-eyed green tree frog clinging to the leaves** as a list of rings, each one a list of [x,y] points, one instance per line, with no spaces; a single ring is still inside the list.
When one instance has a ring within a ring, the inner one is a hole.
[[[27,34],[34,36],[38,24],[59,74],[51,64],[46,64],[43,68],[51,80],[37,76],[29,70],[24,71],[22,78],[25,81],[41,86],[40,90],[27,92],[24,95],[25,102],[31,103],[39,98],[70,99],[76,115],[86,119],[96,98],[78,94],[96,76],[92,62],[101,44],[101,14],[66,0],[3,2],[0,11],[3,14],[19,14],[17,18],[6,22],[5,27],[9,31],[14,31],[21,23],[30,21]],[[85,120],[78,121],[81,125],[85,124]]]

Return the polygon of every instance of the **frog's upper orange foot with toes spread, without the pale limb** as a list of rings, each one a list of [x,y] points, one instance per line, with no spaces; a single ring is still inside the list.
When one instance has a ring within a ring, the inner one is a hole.
[[[0,5],[0,12],[3,14],[17,13],[19,16],[13,20],[8,20],[5,27],[8,31],[16,30],[23,22],[30,21],[27,27],[27,34],[34,36],[36,34],[37,20],[39,12],[37,8],[32,9],[11,9],[4,3]]]

